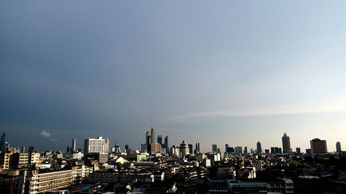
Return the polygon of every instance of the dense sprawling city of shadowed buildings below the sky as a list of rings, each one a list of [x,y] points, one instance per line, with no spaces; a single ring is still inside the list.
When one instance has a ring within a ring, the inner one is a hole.
[[[156,141],[157,137],[157,141]],[[0,193],[346,193],[346,154],[336,143],[311,139],[301,153],[284,133],[282,148],[256,150],[217,144],[201,153],[185,140],[169,146],[154,128],[140,151],[118,144],[109,149],[104,137],[84,139],[84,150],[71,147],[39,153],[33,147],[10,148],[1,136]],[[323,188],[320,188],[323,186]]]

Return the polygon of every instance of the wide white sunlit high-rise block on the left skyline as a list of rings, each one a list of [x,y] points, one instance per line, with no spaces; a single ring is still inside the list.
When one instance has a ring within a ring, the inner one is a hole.
[[[84,139],[84,154],[85,153],[108,153],[108,139],[98,137],[97,139]]]

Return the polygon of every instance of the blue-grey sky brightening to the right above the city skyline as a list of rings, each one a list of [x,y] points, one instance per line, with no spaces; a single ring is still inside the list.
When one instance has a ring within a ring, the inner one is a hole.
[[[0,1],[0,133],[346,147],[346,1]]]

